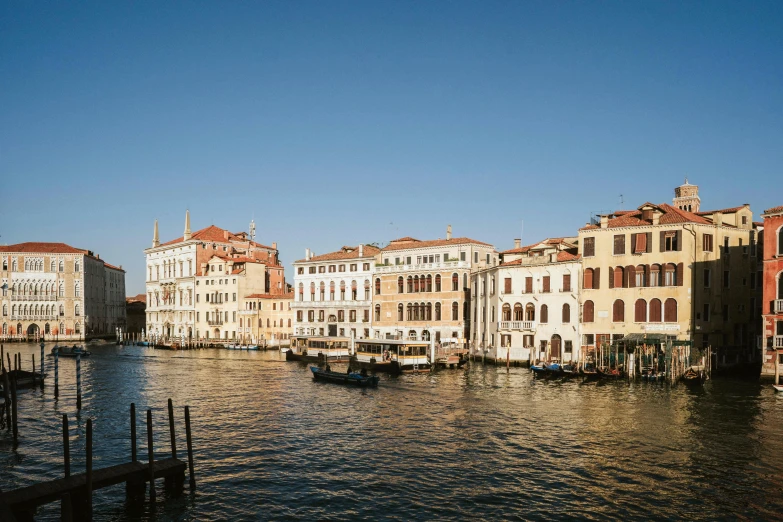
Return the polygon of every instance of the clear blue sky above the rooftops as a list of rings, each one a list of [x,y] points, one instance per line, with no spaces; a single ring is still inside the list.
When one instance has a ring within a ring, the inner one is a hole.
[[[144,291],[215,224],[310,247],[510,248],[591,212],[783,204],[783,2],[0,3],[0,243]],[[524,222],[524,228],[522,226]]]

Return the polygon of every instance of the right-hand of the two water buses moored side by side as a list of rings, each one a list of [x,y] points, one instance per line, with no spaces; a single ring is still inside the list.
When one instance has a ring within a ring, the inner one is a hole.
[[[374,372],[425,372],[431,367],[430,341],[361,339],[354,341],[351,368]]]

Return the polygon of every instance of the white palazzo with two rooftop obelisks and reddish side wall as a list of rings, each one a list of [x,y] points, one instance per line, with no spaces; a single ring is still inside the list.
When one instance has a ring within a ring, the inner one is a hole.
[[[232,233],[212,225],[191,233],[190,213],[186,212],[182,237],[161,243],[158,222],[155,221],[152,246],[144,250],[147,270],[146,323],[149,335],[165,340],[180,339],[183,336],[186,339],[206,338],[209,333],[210,338],[214,338],[215,332],[219,331],[221,339],[230,338],[230,332],[236,332],[236,328],[232,326],[238,323],[229,323],[223,327],[223,319],[226,312],[229,312],[229,319],[233,317],[230,312],[238,311],[238,301],[234,302],[234,305],[230,304],[233,301],[204,301],[211,294],[220,293],[222,297],[225,297],[226,293],[242,295],[237,283],[225,282],[233,281],[236,278],[230,276],[237,274],[219,273],[217,268],[214,273],[211,271],[212,267],[223,266],[222,272],[225,272],[229,264],[227,260],[234,260],[232,271],[247,264],[240,260],[251,260],[248,263],[254,268],[250,273],[260,281],[248,285],[263,293],[284,293],[285,273],[279,262],[276,243],[272,243],[271,247],[257,243],[252,236],[255,225],[251,223],[250,228],[251,234]],[[213,259],[218,261],[212,263]],[[234,264],[237,266],[234,267]],[[209,272],[206,271],[207,267]],[[245,281],[247,275],[245,274]],[[215,288],[211,288],[213,280]],[[208,306],[199,306],[205,304]],[[225,306],[210,308],[211,305],[218,304]],[[205,314],[197,317],[197,311]],[[221,319],[217,319],[218,311],[221,313]],[[214,320],[204,318],[212,317],[212,312],[215,312]],[[210,324],[210,321],[214,324]]]

